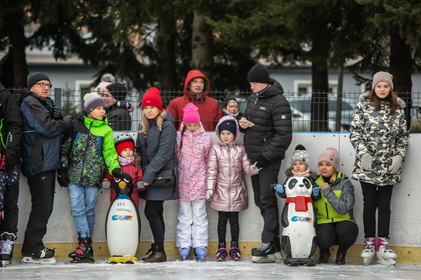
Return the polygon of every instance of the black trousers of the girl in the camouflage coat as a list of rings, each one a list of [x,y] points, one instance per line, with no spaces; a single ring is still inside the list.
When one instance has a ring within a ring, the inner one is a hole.
[[[378,211],[378,237],[389,238],[393,185],[376,186],[361,182],[361,189],[364,200],[362,218],[365,238],[376,237],[376,211]]]

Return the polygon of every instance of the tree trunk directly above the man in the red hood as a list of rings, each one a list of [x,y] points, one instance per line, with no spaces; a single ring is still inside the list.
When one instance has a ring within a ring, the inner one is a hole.
[[[194,12],[192,24],[192,70],[199,70],[205,75],[212,85],[213,80],[213,34],[210,26],[206,23],[205,16]]]

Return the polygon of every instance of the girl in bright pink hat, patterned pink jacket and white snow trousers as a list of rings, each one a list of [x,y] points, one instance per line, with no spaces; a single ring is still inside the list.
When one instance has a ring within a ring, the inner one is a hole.
[[[179,174],[179,211],[176,246],[187,260],[194,248],[197,261],[207,255],[206,163],[212,138],[204,130],[199,109],[192,103],[183,108],[183,121],[177,132],[176,155]]]

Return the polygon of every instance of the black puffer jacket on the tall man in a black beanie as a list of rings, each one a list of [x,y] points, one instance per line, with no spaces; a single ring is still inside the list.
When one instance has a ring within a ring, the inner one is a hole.
[[[282,93],[281,84],[271,79],[259,97],[255,93],[248,97],[242,117],[255,126],[241,131],[245,132],[244,146],[252,162],[260,155],[269,162],[285,158],[292,140],[292,122],[291,107]]]

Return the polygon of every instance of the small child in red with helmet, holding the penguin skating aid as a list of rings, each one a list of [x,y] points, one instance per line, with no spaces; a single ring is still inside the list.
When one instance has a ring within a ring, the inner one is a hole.
[[[114,138],[114,146],[116,147],[121,172],[129,174],[133,181],[133,192],[131,198],[139,209],[139,191],[145,189],[142,182],[143,172],[140,155],[136,154],[135,141],[128,133],[120,133]],[[114,184],[114,177],[107,172],[102,179],[102,188],[108,189]],[[110,202],[116,198],[114,188],[110,192]]]

